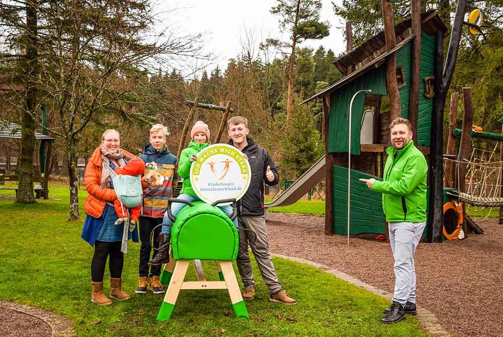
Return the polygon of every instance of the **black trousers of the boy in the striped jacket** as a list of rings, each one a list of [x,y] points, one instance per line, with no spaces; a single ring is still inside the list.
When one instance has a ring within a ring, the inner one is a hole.
[[[153,256],[156,254],[156,250],[152,249],[150,244],[150,232],[158,224],[162,223],[162,218],[150,218],[146,216],[140,216],[140,266],[138,268],[138,273],[141,276],[159,276],[161,266],[149,266],[147,262],[150,261],[150,252],[153,252]],[[160,226],[155,229],[154,240],[160,233]],[[157,246],[157,245],[156,245]],[[150,268],[150,275],[148,275],[148,269]]]

